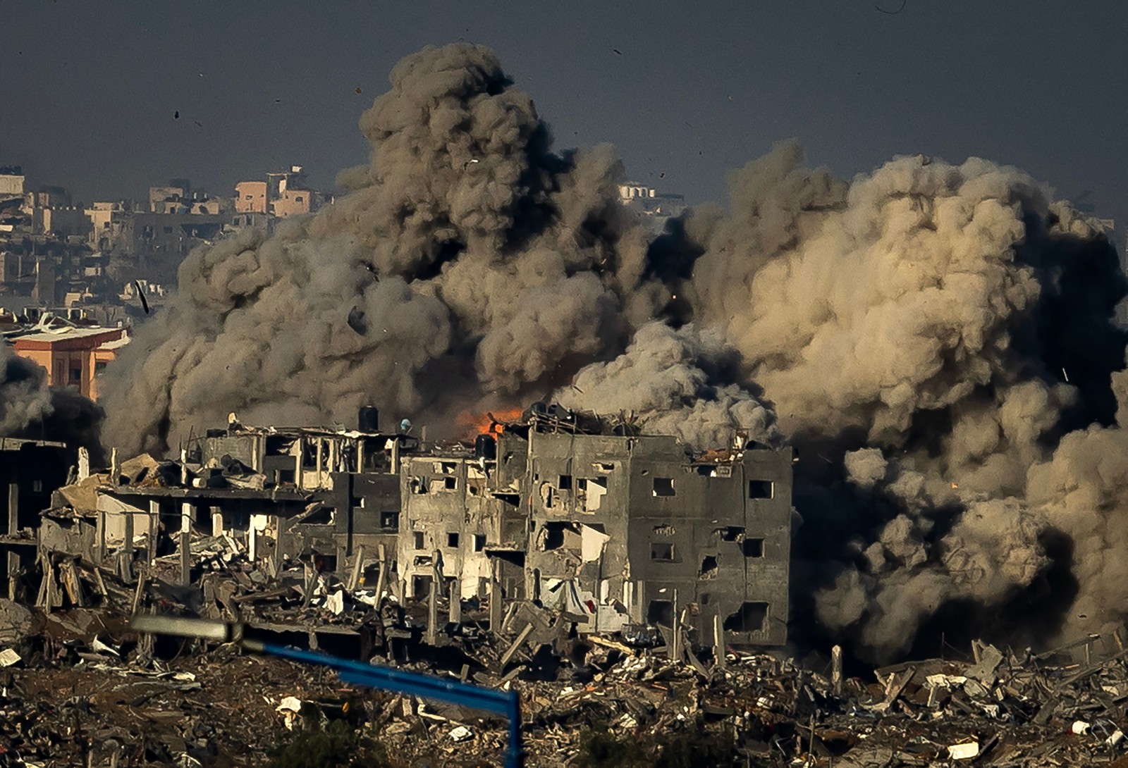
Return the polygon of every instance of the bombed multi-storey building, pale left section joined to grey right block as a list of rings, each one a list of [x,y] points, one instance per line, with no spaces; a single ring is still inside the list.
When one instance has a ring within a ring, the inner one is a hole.
[[[680,624],[712,641],[786,638],[791,449],[689,454],[676,438],[616,434],[535,405],[473,457],[402,469],[398,562],[411,593],[493,584],[576,620],[581,633]],[[618,430],[624,432],[624,430]]]

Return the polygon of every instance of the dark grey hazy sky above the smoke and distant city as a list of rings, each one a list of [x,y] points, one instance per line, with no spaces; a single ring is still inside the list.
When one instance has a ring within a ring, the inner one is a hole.
[[[356,120],[391,65],[459,38],[499,53],[557,149],[609,141],[690,202],[797,136],[846,176],[1013,164],[1128,223],[1126,0],[0,0],[0,165],[87,202],[291,162],[331,187],[367,159]]]

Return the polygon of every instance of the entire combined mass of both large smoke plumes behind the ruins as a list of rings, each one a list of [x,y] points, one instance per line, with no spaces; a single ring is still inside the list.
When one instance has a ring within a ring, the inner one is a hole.
[[[400,62],[361,130],[335,205],[185,261],[112,369],[109,443],[555,392],[796,445],[792,615],[860,653],[953,611],[1030,642],[1123,618],[1128,283],[1045,185],[924,157],[847,182],[785,143],[647,244],[610,149],[554,153],[472,45]]]

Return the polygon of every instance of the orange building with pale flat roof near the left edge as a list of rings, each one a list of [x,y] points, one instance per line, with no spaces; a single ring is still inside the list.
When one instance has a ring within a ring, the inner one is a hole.
[[[12,346],[46,369],[49,386],[71,387],[97,399],[98,377],[127,343],[124,328],[63,326],[17,336]]]

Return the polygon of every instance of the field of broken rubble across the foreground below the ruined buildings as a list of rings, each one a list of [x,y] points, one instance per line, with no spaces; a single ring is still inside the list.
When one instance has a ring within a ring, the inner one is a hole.
[[[382,619],[370,607],[361,623]],[[679,744],[712,750],[711,765],[1128,766],[1117,637],[1040,655],[976,643],[966,661],[854,678],[832,661],[688,647],[679,661],[607,638],[572,641],[557,657],[514,641],[430,657],[413,646],[399,663],[517,690],[528,766],[678,765],[662,756]],[[481,713],[230,645],[136,635],[113,610],[0,601],[0,765],[267,763],[301,729],[334,720],[396,766],[500,765],[505,748],[505,723]]]

